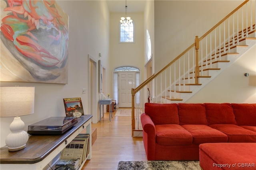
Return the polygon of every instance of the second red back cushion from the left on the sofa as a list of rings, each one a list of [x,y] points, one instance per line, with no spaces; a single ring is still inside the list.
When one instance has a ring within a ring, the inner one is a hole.
[[[204,104],[179,103],[180,125],[208,125]]]

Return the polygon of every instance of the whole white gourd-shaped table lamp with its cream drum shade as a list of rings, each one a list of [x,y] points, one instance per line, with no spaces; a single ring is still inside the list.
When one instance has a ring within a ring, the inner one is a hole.
[[[9,151],[24,149],[28,141],[28,133],[20,116],[34,113],[35,87],[1,87],[0,117],[14,117],[10,124],[11,133],[5,143]]]

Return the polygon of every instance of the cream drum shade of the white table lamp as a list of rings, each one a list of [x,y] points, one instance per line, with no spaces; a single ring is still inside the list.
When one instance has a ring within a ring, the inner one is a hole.
[[[34,113],[35,87],[1,87],[0,117]]]

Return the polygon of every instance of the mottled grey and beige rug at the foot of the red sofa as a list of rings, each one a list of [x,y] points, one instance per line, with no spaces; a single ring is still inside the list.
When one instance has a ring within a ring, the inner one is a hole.
[[[200,170],[199,161],[120,161],[118,170]]]

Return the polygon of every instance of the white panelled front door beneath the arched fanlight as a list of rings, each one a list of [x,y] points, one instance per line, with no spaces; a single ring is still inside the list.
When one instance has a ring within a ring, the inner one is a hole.
[[[119,72],[119,107],[132,107],[132,88],[135,87],[135,72]]]

